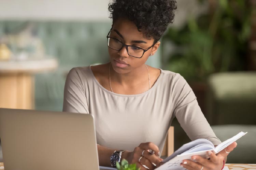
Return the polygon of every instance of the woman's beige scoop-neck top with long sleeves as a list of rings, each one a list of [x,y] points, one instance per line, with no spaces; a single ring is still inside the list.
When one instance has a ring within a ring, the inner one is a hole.
[[[90,67],[70,70],[64,90],[63,111],[94,116],[97,143],[112,149],[133,151],[143,142],[163,150],[174,117],[191,140],[215,136],[198,106],[196,96],[177,73],[161,70],[154,86],[138,95],[120,95],[102,87]]]

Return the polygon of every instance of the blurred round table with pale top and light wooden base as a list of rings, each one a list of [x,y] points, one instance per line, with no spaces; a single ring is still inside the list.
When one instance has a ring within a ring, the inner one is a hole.
[[[0,61],[0,107],[34,108],[34,73],[54,70],[55,58]]]

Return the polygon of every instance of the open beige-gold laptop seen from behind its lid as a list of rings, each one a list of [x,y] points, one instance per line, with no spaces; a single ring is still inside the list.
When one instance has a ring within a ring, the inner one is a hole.
[[[0,108],[0,138],[5,170],[99,170],[90,114]]]

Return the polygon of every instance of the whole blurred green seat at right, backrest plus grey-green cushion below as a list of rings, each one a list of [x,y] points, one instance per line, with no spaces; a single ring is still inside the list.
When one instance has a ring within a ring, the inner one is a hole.
[[[243,131],[228,163],[255,163],[256,72],[212,74],[208,81],[208,112],[205,117],[221,140]]]

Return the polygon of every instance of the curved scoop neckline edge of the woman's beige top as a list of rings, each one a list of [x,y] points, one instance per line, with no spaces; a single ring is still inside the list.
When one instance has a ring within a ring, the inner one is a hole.
[[[90,66],[89,66],[89,70],[90,70],[90,73],[91,73],[91,75],[92,75],[92,77],[93,77],[93,80],[96,82],[96,84],[97,84],[103,91],[105,91],[105,92],[107,92],[107,93],[109,93],[109,94],[111,94],[111,95],[121,96],[121,97],[137,97],[137,96],[142,96],[142,95],[148,94],[150,91],[152,91],[152,90],[154,90],[154,89],[156,88],[156,85],[158,84],[159,79],[162,77],[162,73],[163,73],[163,70],[160,69],[160,68],[158,68],[158,69],[161,71],[161,72],[160,72],[160,75],[158,76],[158,78],[157,78],[155,84],[154,84],[149,90],[147,90],[147,91],[145,91],[145,92],[143,92],[143,93],[141,93],[141,94],[124,95],[124,94],[118,94],[118,93],[115,93],[115,92],[112,92],[112,91],[109,91],[109,90],[105,89],[105,88],[98,82],[98,80],[96,79],[96,77],[94,76],[93,70],[91,70],[91,66],[93,66],[93,65],[90,65]]]

